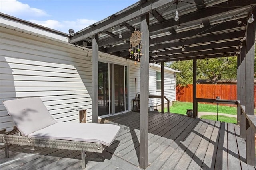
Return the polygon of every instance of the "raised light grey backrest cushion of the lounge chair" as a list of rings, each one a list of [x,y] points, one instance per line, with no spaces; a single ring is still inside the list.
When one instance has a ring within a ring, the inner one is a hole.
[[[25,136],[57,123],[39,97],[7,100],[3,104],[14,124]]]

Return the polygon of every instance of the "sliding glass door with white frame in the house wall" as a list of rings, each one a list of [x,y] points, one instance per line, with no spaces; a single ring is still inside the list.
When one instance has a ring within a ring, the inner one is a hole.
[[[99,116],[128,111],[127,75],[127,66],[99,62]]]

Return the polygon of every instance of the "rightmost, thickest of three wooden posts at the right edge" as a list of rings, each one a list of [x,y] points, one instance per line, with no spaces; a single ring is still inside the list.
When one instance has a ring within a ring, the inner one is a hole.
[[[254,12],[254,16],[255,16]],[[254,115],[254,52],[256,21],[247,25],[246,57],[245,57],[245,90],[246,90],[246,115]],[[255,133],[252,126],[246,121],[246,160],[247,164],[256,165],[255,160]]]

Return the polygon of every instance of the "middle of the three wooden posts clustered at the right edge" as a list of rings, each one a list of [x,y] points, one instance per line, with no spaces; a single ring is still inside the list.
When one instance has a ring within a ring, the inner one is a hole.
[[[245,101],[245,56],[246,56],[246,41],[242,43],[244,48],[241,49],[240,54],[240,101],[241,105],[246,105]],[[239,78],[239,77],[238,77]],[[239,79],[237,79],[238,81]],[[239,88],[237,86],[237,88]],[[238,89],[239,90],[239,89]],[[246,137],[246,117],[245,114],[240,109],[240,137],[245,138]]]

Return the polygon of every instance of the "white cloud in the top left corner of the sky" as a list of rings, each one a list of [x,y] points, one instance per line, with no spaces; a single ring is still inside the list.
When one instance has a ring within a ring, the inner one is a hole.
[[[44,10],[32,8],[17,0],[0,0],[0,12],[11,16],[49,16]]]

